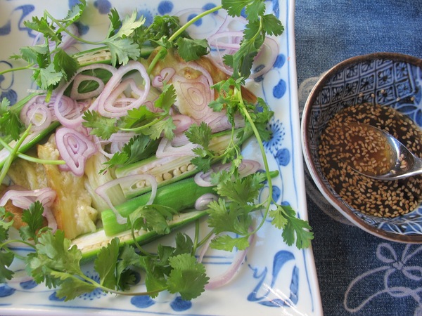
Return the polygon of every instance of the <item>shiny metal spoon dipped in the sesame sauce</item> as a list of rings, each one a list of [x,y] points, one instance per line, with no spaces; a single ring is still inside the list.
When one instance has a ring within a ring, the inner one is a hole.
[[[373,174],[362,170],[359,171],[352,167],[355,171],[376,180],[397,180],[410,176],[416,176],[422,173],[422,159],[416,157],[416,155],[413,154],[405,145],[400,143],[397,138],[392,136],[390,133],[383,131],[382,129],[378,129],[375,126],[367,124],[361,125],[365,126],[366,129],[373,129],[386,138],[388,145],[391,146],[390,153],[392,154],[391,158],[394,163],[390,167],[390,170],[380,174]]]

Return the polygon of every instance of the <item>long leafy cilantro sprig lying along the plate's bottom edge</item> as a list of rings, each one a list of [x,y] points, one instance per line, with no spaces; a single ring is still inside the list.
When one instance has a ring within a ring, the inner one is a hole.
[[[121,245],[118,238],[112,239],[101,248],[94,261],[99,277],[97,282],[82,271],[82,252],[76,245],[71,246],[63,230],[51,232],[44,225],[43,212],[40,202],[34,202],[29,209],[23,210],[21,219],[24,225],[19,228],[21,239],[8,239],[13,213],[0,207],[0,282],[13,278],[11,264],[14,258],[21,256],[8,245],[20,242],[34,250],[23,258],[34,281],[56,288],[58,298],[65,301],[96,289],[106,293],[152,297],[168,290],[179,293],[185,300],[196,298],[204,291],[209,278],[205,275],[203,264],[196,261],[193,242],[186,234],[177,234],[174,247],[158,246],[158,255],[136,252],[132,246]],[[151,216],[154,216],[153,213]],[[146,272],[147,290],[127,293],[136,284],[136,269],[139,268]],[[193,279],[196,282],[192,283]]]

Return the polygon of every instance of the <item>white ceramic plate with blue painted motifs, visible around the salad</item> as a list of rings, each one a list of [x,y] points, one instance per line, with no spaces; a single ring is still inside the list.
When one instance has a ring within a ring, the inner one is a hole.
[[[25,28],[23,20],[41,15],[45,8],[54,16],[64,16],[74,0],[69,1],[2,1],[0,10],[0,70],[12,67],[8,56],[18,52],[22,45],[32,43],[34,34]],[[87,37],[95,39],[98,32],[105,32],[107,14],[115,7],[121,14],[136,9],[147,18],[157,14],[174,15],[191,7],[184,0],[171,1],[117,1],[96,0],[89,2],[89,14],[84,15],[81,29]],[[209,8],[214,4],[206,0],[191,1],[196,8]],[[295,70],[294,1],[267,1],[267,8],[274,11],[286,27],[277,39],[279,57],[274,67],[264,77],[248,83],[248,87],[262,96],[275,116],[270,128],[273,138],[265,143],[271,169],[279,170],[274,181],[274,194],[281,203],[288,203],[307,219],[305,185],[300,147],[298,96]],[[197,10],[184,11],[184,17]],[[203,20],[192,32],[203,32],[219,24],[217,15]],[[100,37],[101,38],[101,37]],[[0,76],[1,97],[15,102],[23,98],[31,87],[29,73],[20,72]],[[189,230],[189,228],[186,228]],[[218,275],[231,263],[234,254],[212,253],[203,261],[210,275]],[[15,263],[19,270],[21,263]],[[91,265],[84,271],[96,277]],[[142,282],[142,281],[141,281]],[[141,285],[139,285],[141,287]],[[74,301],[60,301],[54,289],[32,281],[9,282],[0,285],[1,315],[322,315],[318,282],[312,249],[298,250],[286,246],[281,231],[266,223],[255,238],[247,259],[236,277],[226,286],[206,291],[193,301],[182,301],[178,296],[160,294],[158,298],[106,295],[94,291]]]

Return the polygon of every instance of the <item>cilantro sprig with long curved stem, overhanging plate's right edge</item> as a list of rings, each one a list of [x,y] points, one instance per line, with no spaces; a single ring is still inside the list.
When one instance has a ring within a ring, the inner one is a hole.
[[[226,251],[232,251],[234,247],[245,249],[249,246],[250,235],[260,230],[267,218],[271,218],[271,224],[283,231],[282,237],[286,244],[295,243],[299,249],[306,248],[313,238],[309,223],[297,218],[295,211],[290,206],[277,204],[272,197],[271,173],[262,143],[269,137],[265,125],[272,112],[263,100],[258,101],[259,107],[245,101],[242,96],[242,82],[242,78],[237,80],[230,78],[215,85],[219,96],[210,106],[217,110],[225,108],[229,121],[232,122],[234,122],[234,114],[240,112],[243,115],[257,139],[265,173],[254,173],[239,178],[238,166],[243,159],[240,154],[241,149],[236,142],[233,142],[233,148],[224,152],[223,155],[227,160],[232,161],[232,165],[229,171],[215,174],[212,178],[213,183],[217,185],[216,191],[222,198],[209,204],[208,223],[214,232],[219,234],[212,240],[211,246]],[[205,162],[210,162],[215,157],[215,154],[207,147],[210,129],[206,124],[193,127],[193,129],[196,129],[196,132],[189,131],[188,138],[201,145],[202,148],[196,151],[198,157],[192,159],[192,162],[198,168],[204,169],[205,166],[208,166]],[[268,186],[268,197],[255,204],[265,181]],[[271,209],[271,207],[275,209]],[[253,213],[261,209],[264,209],[262,219],[257,228],[251,231]]]

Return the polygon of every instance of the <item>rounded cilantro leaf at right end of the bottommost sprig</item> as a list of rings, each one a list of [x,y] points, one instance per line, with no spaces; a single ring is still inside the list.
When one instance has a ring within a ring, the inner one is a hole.
[[[170,293],[179,293],[184,300],[200,296],[210,279],[205,274],[205,266],[190,254],[173,256],[169,258],[169,262],[172,266],[172,272],[167,279]]]

